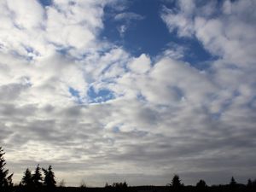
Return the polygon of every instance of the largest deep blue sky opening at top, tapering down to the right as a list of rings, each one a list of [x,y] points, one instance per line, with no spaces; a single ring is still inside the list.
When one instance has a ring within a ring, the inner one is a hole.
[[[166,24],[160,18],[162,6],[174,8],[175,3],[164,3],[164,1],[133,1],[130,6],[122,12],[113,11],[106,8],[106,17],[104,20],[104,30],[101,38],[107,38],[109,41],[122,46],[131,55],[139,56],[143,53],[151,57],[160,55],[168,49],[168,44],[178,44],[186,47],[183,53],[183,61],[189,62],[193,67],[205,69],[209,67],[209,62],[214,61],[216,56],[211,55],[196,38],[180,38],[177,32],[170,33]],[[114,16],[130,12],[142,15],[143,20],[132,20],[127,24],[125,20],[123,24],[120,20],[114,20]],[[120,25],[128,25],[123,35],[120,35],[118,28]]]

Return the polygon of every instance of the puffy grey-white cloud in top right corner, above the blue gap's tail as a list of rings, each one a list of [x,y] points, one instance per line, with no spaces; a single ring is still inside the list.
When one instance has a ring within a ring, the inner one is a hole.
[[[181,37],[195,35],[213,55],[224,57],[237,65],[245,65],[247,62],[253,63],[254,57],[254,5],[253,1],[225,1],[222,6],[224,13],[214,18],[204,14],[204,10],[208,10],[208,3],[195,9],[195,6],[181,1],[177,13],[164,8],[161,17],[170,32],[177,29],[177,34]],[[216,12],[217,4],[212,4],[212,7]],[[227,15],[227,12],[230,12],[230,15]],[[246,12],[250,13],[250,16],[245,14]]]

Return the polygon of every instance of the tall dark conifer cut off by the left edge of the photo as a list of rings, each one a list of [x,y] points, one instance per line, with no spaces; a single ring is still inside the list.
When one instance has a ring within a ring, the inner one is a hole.
[[[9,175],[9,170],[4,168],[6,165],[6,162],[3,158],[4,154],[5,153],[3,152],[3,148],[0,147],[0,189],[13,186],[12,177],[14,174]]]

